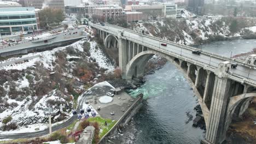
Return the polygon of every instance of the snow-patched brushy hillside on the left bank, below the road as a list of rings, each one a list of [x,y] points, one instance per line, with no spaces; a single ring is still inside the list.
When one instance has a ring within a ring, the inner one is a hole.
[[[89,29],[86,31],[91,33]],[[79,94],[104,81],[109,71],[114,70],[93,38],[22,56],[25,57],[33,58],[0,67],[2,134],[45,129],[48,116],[44,112],[48,109],[54,112],[53,123],[63,122],[72,116]],[[20,58],[8,58],[0,63]]]

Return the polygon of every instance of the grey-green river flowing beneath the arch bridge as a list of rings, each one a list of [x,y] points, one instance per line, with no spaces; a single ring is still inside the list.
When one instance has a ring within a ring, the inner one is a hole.
[[[236,39],[202,45],[203,50],[230,56],[249,52],[256,40]],[[143,93],[147,101],[133,121],[118,135],[118,143],[200,143],[205,131],[192,127],[197,99],[183,74],[170,62],[152,75],[145,76],[143,86],[130,91]]]

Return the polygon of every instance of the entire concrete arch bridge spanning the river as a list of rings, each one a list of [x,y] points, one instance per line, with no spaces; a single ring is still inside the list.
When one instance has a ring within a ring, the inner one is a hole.
[[[205,143],[222,143],[232,117],[240,117],[256,97],[256,55],[246,61],[200,51],[114,25],[89,22],[107,48],[118,49],[124,79],[143,76],[153,55],[174,63],[184,73],[199,99],[206,122]],[[166,46],[161,44],[167,44]],[[194,51],[194,53],[193,53]]]

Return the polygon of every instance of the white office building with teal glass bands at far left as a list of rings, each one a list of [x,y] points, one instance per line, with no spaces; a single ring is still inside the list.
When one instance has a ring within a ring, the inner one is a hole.
[[[37,29],[37,16],[34,8],[0,8],[0,32],[2,35]]]

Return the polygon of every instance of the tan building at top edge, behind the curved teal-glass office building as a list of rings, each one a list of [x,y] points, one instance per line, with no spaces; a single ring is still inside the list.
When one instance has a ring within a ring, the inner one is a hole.
[[[20,3],[24,7],[34,7],[36,9],[43,9],[49,7],[53,9],[62,9],[63,12],[65,11],[64,0],[20,0]]]

